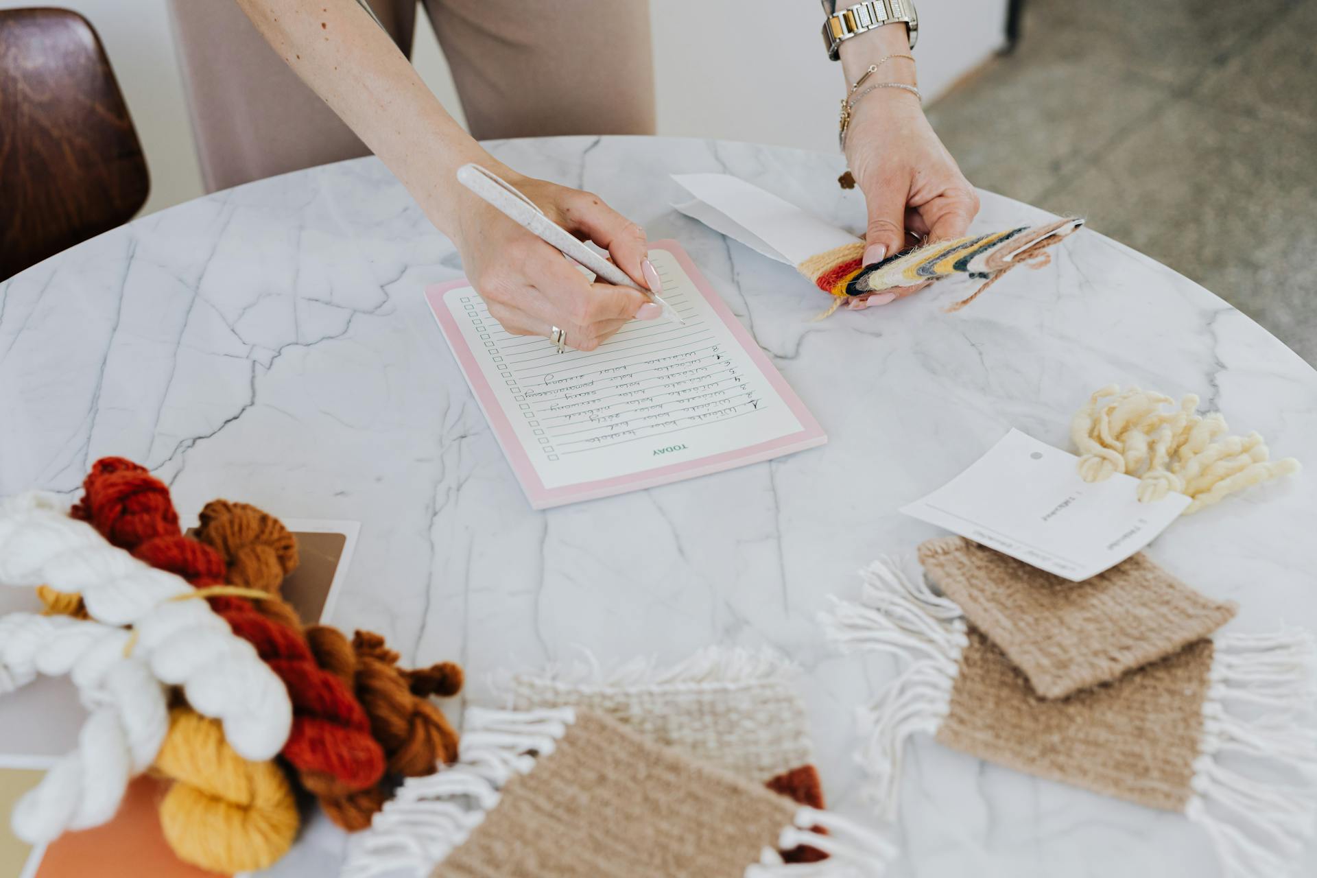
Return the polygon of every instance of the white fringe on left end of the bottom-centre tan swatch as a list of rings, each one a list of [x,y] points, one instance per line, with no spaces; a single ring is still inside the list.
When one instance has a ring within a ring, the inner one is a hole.
[[[468,708],[460,761],[437,774],[407,778],[353,839],[342,878],[396,870],[421,875],[466,841],[518,774],[529,774],[576,721],[570,707],[543,711]]]

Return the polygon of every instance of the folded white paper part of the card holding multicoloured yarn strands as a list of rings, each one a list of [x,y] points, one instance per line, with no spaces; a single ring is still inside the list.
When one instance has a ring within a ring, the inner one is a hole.
[[[673,174],[697,200],[674,204],[715,232],[770,259],[799,265],[817,253],[859,241],[846,229],[730,174]]]

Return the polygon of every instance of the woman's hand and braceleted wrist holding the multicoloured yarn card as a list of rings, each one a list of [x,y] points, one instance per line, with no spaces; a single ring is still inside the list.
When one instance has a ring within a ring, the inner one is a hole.
[[[842,61],[855,82],[884,55],[907,51],[905,28],[890,25],[843,43]],[[893,58],[881,63],[871,82],[914,84],[913,74],[911,62]],[[876,88],[855,103],[846,158],[869,213],[864,265],[925,240],[961,237],[979,213],[973,187],[928,125],[918,99],[905,90]],[[873,294],[867,304],[885,304],[923,286]]]

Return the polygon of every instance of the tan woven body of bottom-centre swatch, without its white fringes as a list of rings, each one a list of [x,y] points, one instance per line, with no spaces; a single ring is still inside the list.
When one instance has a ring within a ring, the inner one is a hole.
[[[578,711],[435,878],[740,878],[797,806]]]

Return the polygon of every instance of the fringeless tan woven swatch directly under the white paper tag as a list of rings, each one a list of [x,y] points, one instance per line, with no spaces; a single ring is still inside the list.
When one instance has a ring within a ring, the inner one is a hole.
[[[1233,603],[1198,594],[1142,553],[1084,582],[956,536],[921,545],[919,561],[1043,698],[1171,656],[1235,615]]]

